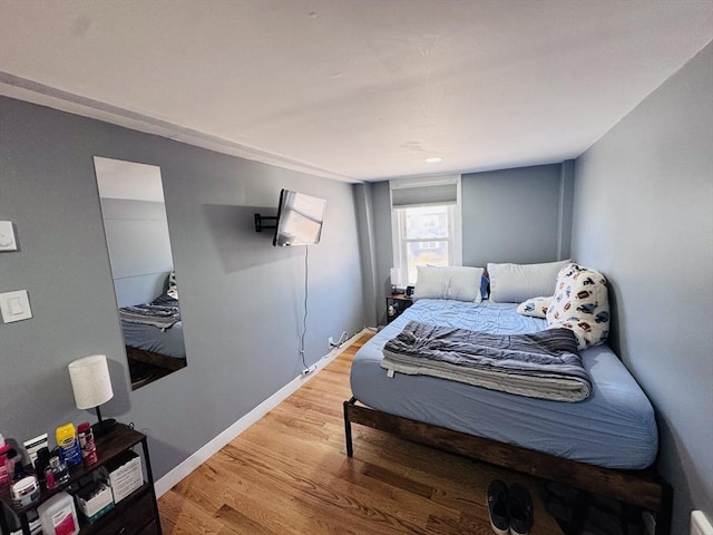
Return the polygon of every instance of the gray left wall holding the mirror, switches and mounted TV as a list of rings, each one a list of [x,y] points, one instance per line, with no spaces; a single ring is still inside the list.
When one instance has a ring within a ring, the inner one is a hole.
[[[364,325],[352,186],[0,98],[0,218],[20,251],[0,253],[0,291],[27,289],[33,318],[0,323],[0,432],[20,440],[94,419],[67,364],[109,359],[107,416],[149,435],[160,477],[300,374],[305,247],[275,249],[253,213],[281,187],[326,198],[310,247],[306,361]],[[188,367],[130,391],[94,156],[158,165]]]

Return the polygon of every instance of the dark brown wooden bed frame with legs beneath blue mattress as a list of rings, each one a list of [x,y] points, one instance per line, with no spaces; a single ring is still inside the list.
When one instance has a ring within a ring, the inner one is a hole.
[[[616,470],[555,457],[531,449],[476,437],[422,421],[389,415],[344,401],[346,455],[353,456],[352,424],[387,431],[399,438],[445,451],[509,468],[545,480],[569,485],[579,490],[615,498],[656,513],[656,535],[671,533],[673,490],[654,469]]]

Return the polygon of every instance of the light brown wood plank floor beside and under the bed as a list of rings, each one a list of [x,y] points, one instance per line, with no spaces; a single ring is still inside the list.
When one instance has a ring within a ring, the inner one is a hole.
[[[533,534],[561,533],[524,476],[359,425],[348,458],[342,401],[364,341],[162,496],[164,533],[491,534],[485,496],[494,478],[530,488]]]

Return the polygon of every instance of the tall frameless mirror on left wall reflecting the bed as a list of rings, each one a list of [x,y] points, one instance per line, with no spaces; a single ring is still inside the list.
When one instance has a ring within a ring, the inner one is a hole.
[[[131,389],[186,367],[160,167],[95,156]]]

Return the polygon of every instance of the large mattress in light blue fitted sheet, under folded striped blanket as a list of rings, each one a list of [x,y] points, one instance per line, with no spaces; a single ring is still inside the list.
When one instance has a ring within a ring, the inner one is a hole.
[[[654,409],[607,346],[580,351],[593,383],[584,401],[517,396],[381,368],[382,349],[410,321],[497,334],[536,332],[545,320],[520,315],[517,304],[419,300],[354,357],[354,397],[383,412],[605,468],[642,469],[658,449]]]

